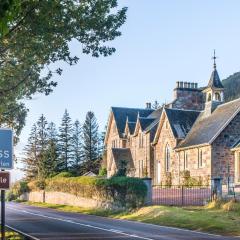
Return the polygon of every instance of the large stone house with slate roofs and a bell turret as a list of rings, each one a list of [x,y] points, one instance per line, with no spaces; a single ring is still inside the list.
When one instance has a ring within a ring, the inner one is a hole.
[[[222,178],[240,183],[240,99],[224,102],[215,59],[206,87],[177,82],[174,100],[159,109],[112,107],[105,137],[107,172],[125,161],[128,174],[155,184]]]

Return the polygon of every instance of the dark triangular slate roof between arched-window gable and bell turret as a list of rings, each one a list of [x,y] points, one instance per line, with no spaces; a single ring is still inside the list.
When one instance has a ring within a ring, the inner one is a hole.
[[[199,111],[165,108],[175,138],[185,138],[199,116]]]

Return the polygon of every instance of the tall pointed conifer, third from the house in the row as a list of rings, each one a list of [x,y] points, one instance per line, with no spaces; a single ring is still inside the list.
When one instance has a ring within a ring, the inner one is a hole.
[[[62,123],[59,128],[59,170],[68,171],[72,165],[72,120],[67,110],[65,110],[62,118]]]

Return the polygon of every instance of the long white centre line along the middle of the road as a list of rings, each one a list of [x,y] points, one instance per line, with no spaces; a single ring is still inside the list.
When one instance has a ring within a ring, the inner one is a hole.
[[[137,236],[137,235],[134,235],[134,234],[128,234],[128,233],[122,232],[122,231],[117,230],[117,229],[107,229],[107,228],[97,227],[97,226],[90,225],[90,224],[84,224],[84,223],[75,222],[75,221],[72,221],[70,219],[50,217],[50,216],[47,216],[47,215],[33,213],[33,212],[26,211],[26,210],[19,210],[17,208],[12,208],[12,207],[7,207],[7,208],[15,210],[15,211],[18,211],[18,212],[24,212],[24,213],[27,213],[27,214],[30,214],[30,215],[38,216],[38,217],[48,218],[48,219],[62,221],[62,222],[68,222],[68,223],[72,223],[72,224],[76,224],[76,225],[80,225],[80,226],[84,226],[84,227],[89,227],[89,228],[94,228],[94,229],[98,229],[98,230],[102,230],[102,231],[118,233],[118,234],[125,235],[125,236],[128,236],[128,237],[144,239],[144,240],[154,240],[152,238],[146,238],[146,237],[140,237],[140,236]]]

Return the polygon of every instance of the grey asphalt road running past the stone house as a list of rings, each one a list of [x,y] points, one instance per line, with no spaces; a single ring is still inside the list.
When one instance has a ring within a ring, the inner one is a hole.
[[[177,228],[60,212],[19,203],[7,203],[6,223],[32,239],[231,240]],[[237,226],[236,226],[237,227]]]

